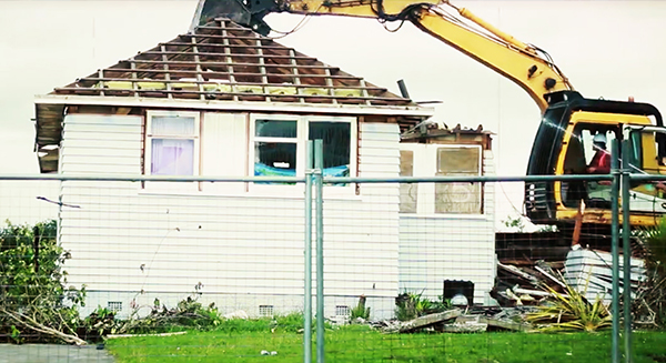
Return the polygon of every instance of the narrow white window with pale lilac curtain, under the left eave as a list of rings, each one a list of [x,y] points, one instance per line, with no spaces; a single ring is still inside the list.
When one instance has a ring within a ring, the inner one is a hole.
[[[145,135],[147,174],[199,174],[199,113],[149,112]]]

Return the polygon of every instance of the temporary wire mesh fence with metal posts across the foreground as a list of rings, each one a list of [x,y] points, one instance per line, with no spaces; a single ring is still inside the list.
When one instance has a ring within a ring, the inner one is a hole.
[[[636,190],[666,178],[632,173],[617,144],[610,174],[519,178],[326,177],[321,143],[309,148],[304,178],[1,175],[0,334],[13,344],[1,349],[13,362],[629,362],[634,344],[652,354],[632,340],[650,323],[632,322],[640,306],[622,309],[636,304],[620,293],[663,290],[645,283],[657,281],[646,253],[663,250],[633,246],[628,211]],[[523,184],[547,185],[547,198],[582,184],[610,220],[577,225],[592,208],[559,229],[533,225],[522,201],[535,190]],[[548,325],[525,316],[573,299],[567,286],[601,299],[591,324],[603,331],[612,316],[609,331],[533,332]]]

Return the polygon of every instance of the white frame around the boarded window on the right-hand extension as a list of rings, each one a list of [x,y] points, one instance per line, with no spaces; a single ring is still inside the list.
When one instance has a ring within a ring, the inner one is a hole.
[[[483,175],[484,149],[481,144],[471,143],[401,143],[400,150],[413,152],[412,175],[414,178],[434,178],[437,174],[437,149],[450,148],[474,148],[478,149],[478,174]],[[480,189],[478,201],[481,210],[478,213],[436,213],[435,212],[435,183],[418,183],[416,191],[416,212],[400,212],[401,216],[405,218],[457,218],[457,219],[483,219],[486,218],[486,209],[484,208],[485,189]]]

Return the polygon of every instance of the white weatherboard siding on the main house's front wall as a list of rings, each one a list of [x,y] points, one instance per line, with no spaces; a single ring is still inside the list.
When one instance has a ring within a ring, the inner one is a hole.
[[[244,175],[245,120],[242,114],[203,114],[203,174]],[[396,177],[397,125],[362,122],[359,133],[359,175]],[[140,117],[67,115],[60,171],[140,174],[142,134]],[[239,152],[240,158],[232,157]],[[62,182],[62,202],[78,206],[63,206],[60,213],[60,241],[72,255],[65,264],[68,284],[88,286],[88,306],[105,306],[113,299],[124,306],[128,299],[178,301],[199,283],[219,306],[240,309],[242,299],[276,309],[302,306],[302,298],[296,299],[303,293],[302,192],[275,189],[274,195],[256,196],[245,183],[161,186]],[[359,190],[356,195],[347,188],[342,196],[335,186],[324,191],[325,293],[347,305],[365,294],[384,305],[377,311],[390,313],[398,284],[398,189],[363,184]],[[335,195],[326,198],[330,191]],[[264,298],[248,300],[248,294]],[[252,314],[256,306],[241,307]],[[334,307],[326,306],[327,313]]]

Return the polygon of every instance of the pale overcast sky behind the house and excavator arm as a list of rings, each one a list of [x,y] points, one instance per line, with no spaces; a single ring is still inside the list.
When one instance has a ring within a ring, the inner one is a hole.
[[[452,2],[548,51],[586,97],[634,95],[666,109],[666,1]],[[185,32],[195,6],[196,0],[0,1],[0,173],[39,171],[30,121],[34,94]],[[301,17],[271,14],[266,20],[287,31]],[[443,101],[436,118],[450,127],[483,124],[497,133],[500,175],[525,173],[539,121],[536,104],[511,81],[412,24],[389,32],[374,20],[316,17],[279,42],[396,93],[395,82],[404,79],[413,99]],[[37,188],[22,184],[19,192],[11,185],[0,186],[0,198],[26,194],[17,205],[27,211],[43,205],[32,200]],[[498,219],[522,202],[521,185],[504,184],[503,190],[496,191],[498,213],[504,213]],[[53,185],[48,191],[57,198]],[[2,200],[0,205],[7,210]]]

